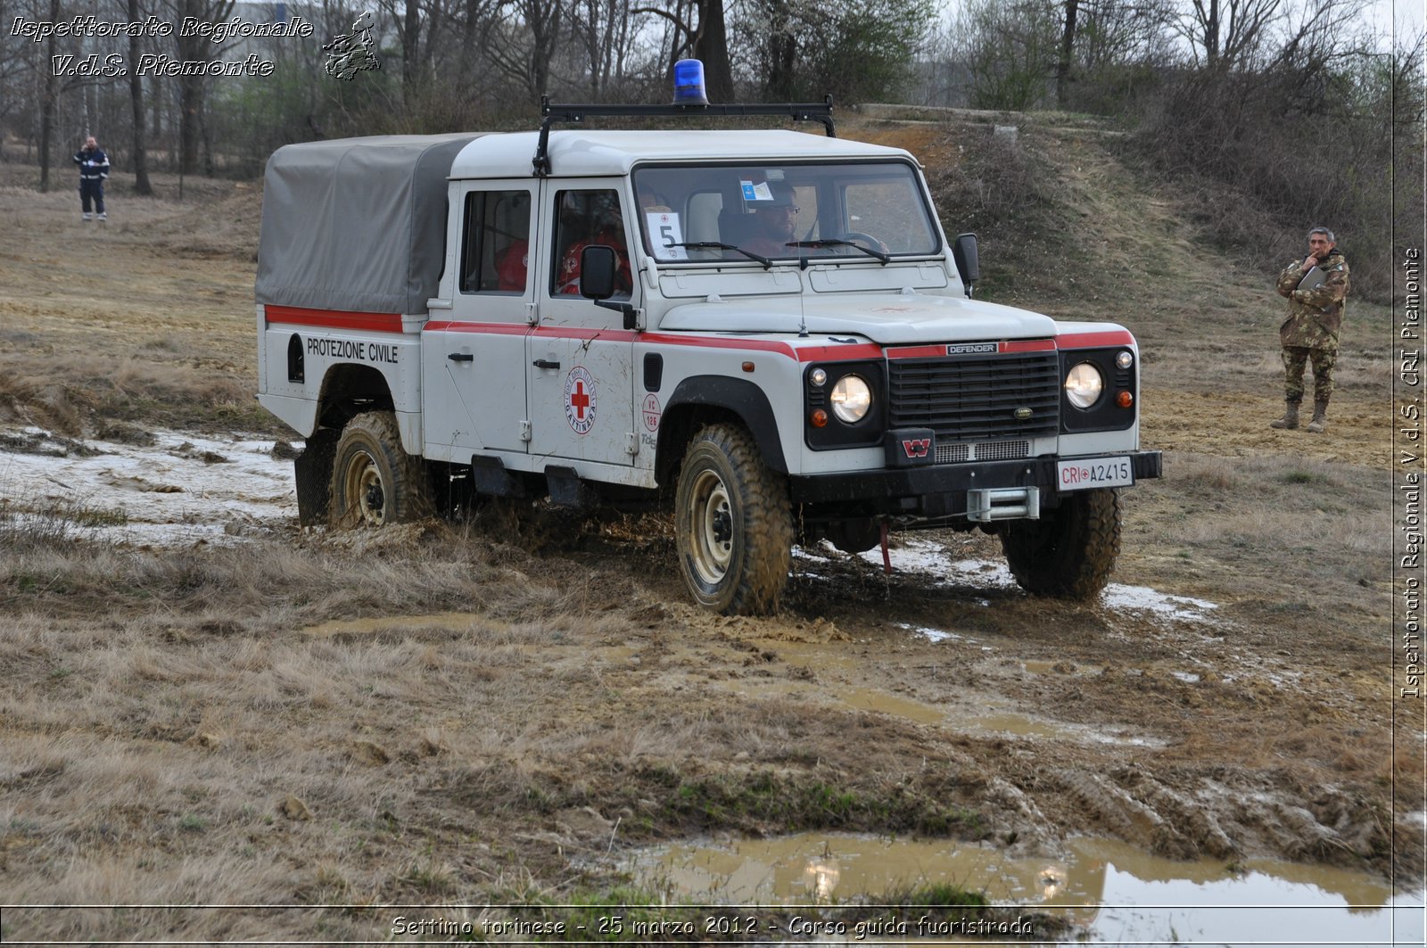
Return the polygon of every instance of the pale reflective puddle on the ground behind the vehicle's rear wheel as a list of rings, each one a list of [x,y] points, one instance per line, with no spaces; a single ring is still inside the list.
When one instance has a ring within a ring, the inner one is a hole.
[[[68,441],[26,428],[0,443],[0,515],[63,517],[76,533],[133,545],[233,543],[297,523],[293,461],[273,441],[154,431],[148,445]],[[23,445],[23,447],[21,447]]]

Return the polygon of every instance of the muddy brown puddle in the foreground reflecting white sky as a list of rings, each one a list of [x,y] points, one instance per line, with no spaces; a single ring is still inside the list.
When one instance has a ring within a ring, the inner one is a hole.
[[[1070,839],[1063,859],[1035,859],[975,844],[803,834],[664,847],[632,868],[671,902],[719,905],[882,902],[950,882],[996,905],[1062,914],[1089,944],[1423,944],[1427,935],[1423,892],[1394,894],[1366,874],[1276,859],[1247,859],[1234,874],[1110,839]],[[898,941],[916,941],[915,924],[906,934]]]

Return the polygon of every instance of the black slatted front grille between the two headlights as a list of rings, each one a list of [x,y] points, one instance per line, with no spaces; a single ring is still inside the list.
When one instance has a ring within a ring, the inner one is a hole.
[[[892,428],[932,428],[939,443],[1033,438],[1060,430],[1060,357],[1053,351],[899,358],[888,365]],[[1022,408],[1029,417],[1016,417]]]

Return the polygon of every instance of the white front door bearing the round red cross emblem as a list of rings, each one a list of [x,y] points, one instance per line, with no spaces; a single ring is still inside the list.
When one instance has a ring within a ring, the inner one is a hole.
[[[547,181],[537,290],[539,323],[527,337],[531,454],[628,465],[634,427],[634,333],[624,317],[579,296],[579,256],[591,244],[619,260],[614,301],[639,293],[621,190],[608,180]],[[638,306],[638,300],[635,300]]]

